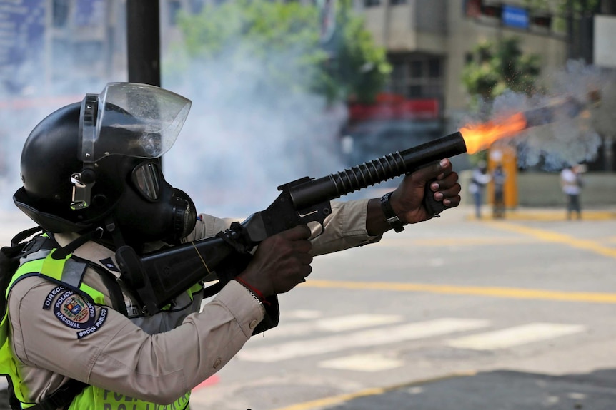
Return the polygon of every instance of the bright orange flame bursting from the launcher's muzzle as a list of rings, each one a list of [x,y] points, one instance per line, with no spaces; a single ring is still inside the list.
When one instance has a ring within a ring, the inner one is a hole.
[[[526,125],[524,114],[517,113],[500,121],[467,125],[459,131],[465,140],[467,153],[474,154],[489,148],[496,140],[520,133]]]

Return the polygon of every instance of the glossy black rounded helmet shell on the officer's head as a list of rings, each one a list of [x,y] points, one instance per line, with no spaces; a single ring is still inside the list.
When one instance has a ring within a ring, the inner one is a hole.
[[[71,175],[84,170],[78,158],[80,108],[81,103],[73,103],[44,118],[21,151],[24,186],[14,195],[14,202],[51,232],[84,230],[109,215],[124,190],[124,171],[128,173],[139,161],[112,155],[94,164],[91,205],[84,210],[71,209]]]

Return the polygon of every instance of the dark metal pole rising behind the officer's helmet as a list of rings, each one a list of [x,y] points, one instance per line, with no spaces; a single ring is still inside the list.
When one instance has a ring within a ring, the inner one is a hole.
[[[126,0],[129,82],[160,86],[159,0]]]

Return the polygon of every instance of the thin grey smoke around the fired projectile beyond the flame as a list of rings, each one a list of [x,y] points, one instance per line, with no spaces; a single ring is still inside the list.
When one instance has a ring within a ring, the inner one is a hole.
[[[600,135],[612,138],[615,133],[613,73],[570,61],[552,80],[547,95],[537,93],[529,97],[510,92],[495,98],[492,105],[490,122],[506,123],[507,118],[516,118],[518,113],[527,114],[528,125],[524,130],[495,142],[515,145],[522,168],[540,166],[552,171],[566,164],[592,160],[602,143]],[[575,109],[566,101],[575,101]]]

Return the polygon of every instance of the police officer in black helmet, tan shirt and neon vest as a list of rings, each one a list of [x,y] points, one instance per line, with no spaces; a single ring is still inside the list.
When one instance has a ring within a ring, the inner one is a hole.
[[[385,198],[332,203],[314,240],[305,226],[267,238],[203,307],[197,283],[147,314],[121,276],[116,249],[149,252],[232,222],[197,215],[161,172],[189,106],[162,88],[109,83],[51,113],[26,140],[14,202],[45,233],[21,258],[0,328],[0,369],[14,408],[188,409],[191,389],[227,364],[269,314],[267,299],[304,282],[312,255],[429,220],[425,192],[443,208],[459,205],[457,173],[444,159]],[[426,181],[433,181],[427,191]]]

